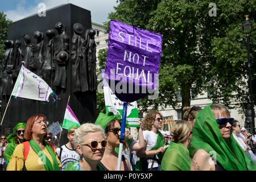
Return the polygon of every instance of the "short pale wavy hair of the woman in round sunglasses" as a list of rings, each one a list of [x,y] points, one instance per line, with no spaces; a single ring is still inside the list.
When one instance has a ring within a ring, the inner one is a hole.
[[[78,129],[75,130],[75,139],[74,139],[75,146],[84,142],[84,135],[87,135],[92,132],[97,132],[97,131],[101,131],[102,137],[105,138],[104,130],[100,125],[94,125],[93,123],[82,124]]]

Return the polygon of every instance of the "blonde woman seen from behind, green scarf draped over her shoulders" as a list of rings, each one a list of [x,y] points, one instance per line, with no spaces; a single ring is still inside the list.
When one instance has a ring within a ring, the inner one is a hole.
[[[176,121],[172,127],[172,139],[164,153],[162,171],[189,171],[191,160],[188,147],[191,145],[192,124],[188,121]]]

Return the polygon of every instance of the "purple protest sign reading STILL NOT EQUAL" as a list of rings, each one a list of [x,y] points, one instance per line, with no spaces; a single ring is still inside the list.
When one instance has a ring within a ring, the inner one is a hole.
[[[158,89],[162,36],[110,20],[105,78],[121,101],[133,102]]]

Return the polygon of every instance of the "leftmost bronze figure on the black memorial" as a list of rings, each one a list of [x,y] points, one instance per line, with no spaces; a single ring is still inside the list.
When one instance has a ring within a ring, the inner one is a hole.
[[[3,96],[11,96],[13,90],[13,68],[14,68],[14,42],[13,40],[5,40],[6,50],[2,55],[2,87],[1,94]]]

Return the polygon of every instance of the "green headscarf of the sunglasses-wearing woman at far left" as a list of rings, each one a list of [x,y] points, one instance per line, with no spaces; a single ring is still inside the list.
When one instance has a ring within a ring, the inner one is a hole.
[[[6,140],[9,142],[9,144],[7,144],[6,150],[5,150],[5,160],[6,160],[7,163],[9,163],[11,155],[13,155],[14,149],[17,146],[17,144],[15,143],[16,131],[18,129],[25,129],[25,128],[26,128],[26,123],[18,123],[14,127],[14,133],[10,134],[6,138]]]

